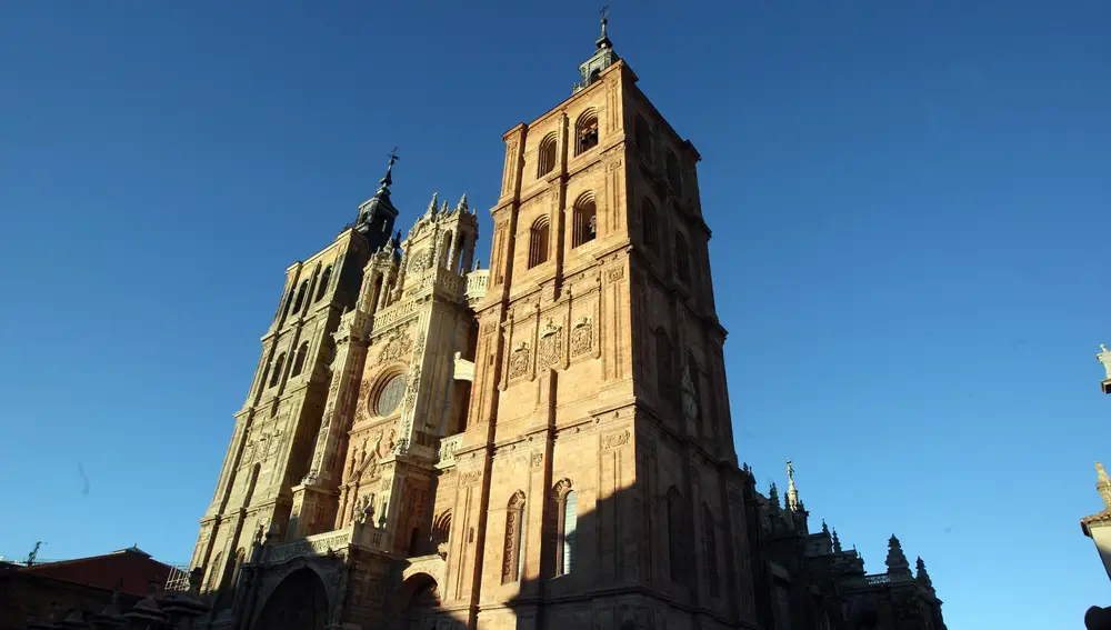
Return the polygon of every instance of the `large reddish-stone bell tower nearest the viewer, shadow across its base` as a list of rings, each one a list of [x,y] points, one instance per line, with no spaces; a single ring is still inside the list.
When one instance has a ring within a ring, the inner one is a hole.
[[[595,626],[754,627],[701,158],[604,13],[579,71],[503,136],[449,551],[474,577],[444,603],[478,607],[478,627],[511,623],[483,606],[508,600],[590,626],[562,603],[587,594],[622,611]]]

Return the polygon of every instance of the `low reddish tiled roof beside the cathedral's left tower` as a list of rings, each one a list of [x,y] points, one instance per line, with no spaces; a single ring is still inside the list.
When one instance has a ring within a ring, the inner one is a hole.
[[[162,587],[170,577],[171,567],[153,560],[148,553],[132,547],[104,556],[47,562],[19,570],[106,590],[112,590],[120,584],[121,592],[142,597],[147,593],[148,580],[154,579],[158,586]]]

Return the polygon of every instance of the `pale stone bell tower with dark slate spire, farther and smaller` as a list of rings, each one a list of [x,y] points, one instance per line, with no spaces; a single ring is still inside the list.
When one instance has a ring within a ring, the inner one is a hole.
[[[334,514],[334,506],[329,513],[327,502],[318,500],[334,492],[327,486],[327,466],[314,458],[316,444],[321,419],[330,412],[326,404],[337,338],[346,339],[343,331],[358,327],[349,311],[360,299],[363,268],[376,251],[397,246],[389,238],[398,214],[389,190],[396,160],[391,154],[378,191],[360,206],[356,223],[286,270],[282,297],[262,336],[254,378],[236,413],[193,550],[191,566],[204,568],[206,591],[231,592],[260,529],[288,540]],[[324,429],[331,436],[327,422]],[[216,602],[217,616],[231,606],[223,594]]]

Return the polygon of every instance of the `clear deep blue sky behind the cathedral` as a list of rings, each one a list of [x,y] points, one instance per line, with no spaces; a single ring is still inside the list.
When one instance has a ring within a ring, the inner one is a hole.
[[[953,630],[1111,604],[1078,523],[1111,460],[1111,4],[610,1],[703,156],[761,486],[793,459],[871,572],[898,533]],[[488,236],[501,133],[569,94],[598,9],[0,3],[0,553],[188,561],[284,268],[394,144],[399,226],[467,191]]]

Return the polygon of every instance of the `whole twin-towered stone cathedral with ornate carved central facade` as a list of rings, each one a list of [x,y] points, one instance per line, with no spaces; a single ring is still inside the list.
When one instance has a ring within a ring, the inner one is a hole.
[[[286,270],[194,627],[944,629],[894,537],[865,576],[793,469],[781,506],[738,464],[699,153],[604,18],[579,71],[503,134],[488,269],[466,196],[393,204],[393,156]]]

